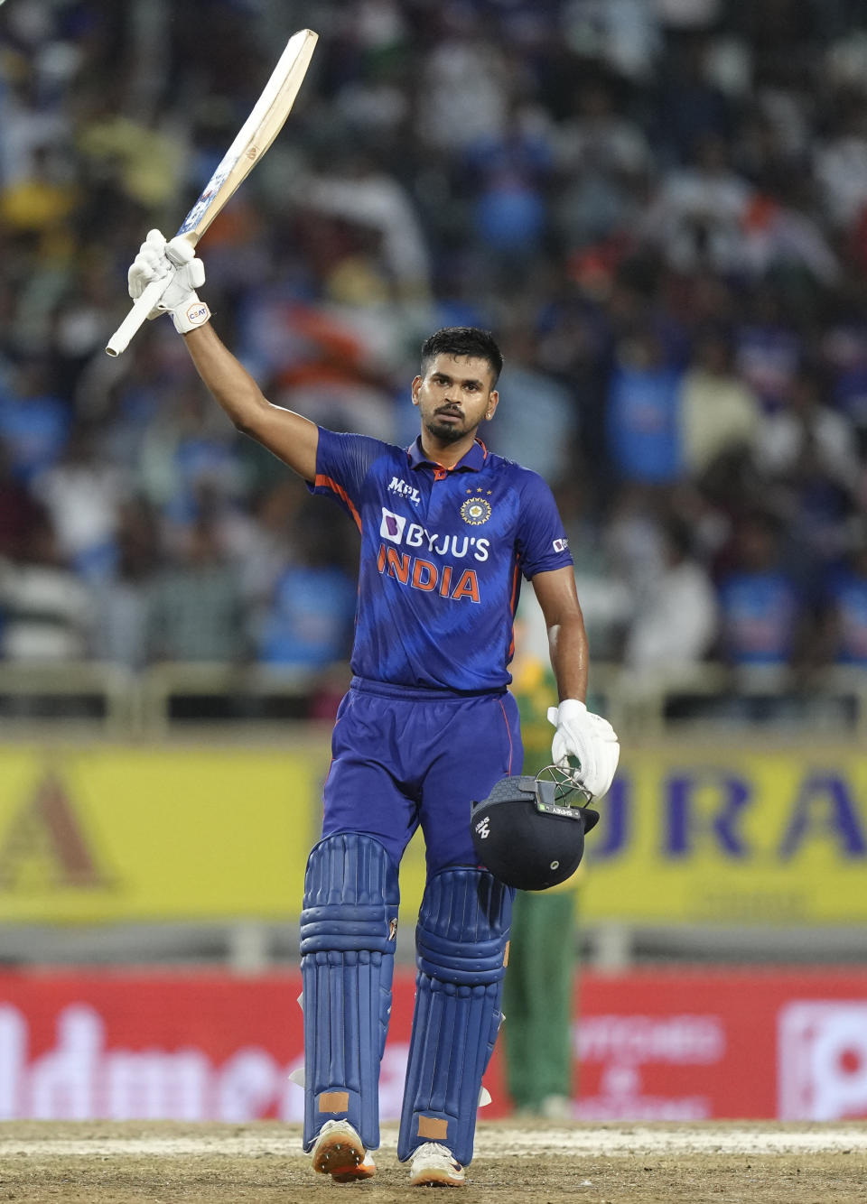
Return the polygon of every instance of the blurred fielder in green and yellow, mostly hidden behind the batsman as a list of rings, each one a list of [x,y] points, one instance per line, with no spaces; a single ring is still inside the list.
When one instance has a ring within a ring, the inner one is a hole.
[[[524,773],[550,765],[547,712],[554,678],[539,660],[513,666],[524,740]],[[583,867],[547,891],[518,891],[503,984],[506,1075],[515,1110],[572,1115],[572,995],[577,966],[577,892]]]

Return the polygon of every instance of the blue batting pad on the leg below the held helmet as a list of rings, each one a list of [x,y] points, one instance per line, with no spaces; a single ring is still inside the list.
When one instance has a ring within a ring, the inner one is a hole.
[[[482,1075],[502,1019],[514,891],[482,869],[450,868],[427,883],[415,929],[415,1014],[397,1157],[425,1141],[472,1159]]]

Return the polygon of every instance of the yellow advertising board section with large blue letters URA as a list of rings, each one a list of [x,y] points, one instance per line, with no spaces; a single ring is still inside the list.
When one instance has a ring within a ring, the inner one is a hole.
[[[851,746],[627,750],[600,811],[588,920],[867,922],[867,755]]]

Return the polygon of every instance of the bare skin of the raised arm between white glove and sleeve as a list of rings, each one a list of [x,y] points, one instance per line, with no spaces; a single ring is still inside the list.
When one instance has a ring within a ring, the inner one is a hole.
[[[306,480],[313,480],[319,442],[315,423],[272,405],[211,323],[184,335],[184,343],[199,376],[237,430],[258,439]]]

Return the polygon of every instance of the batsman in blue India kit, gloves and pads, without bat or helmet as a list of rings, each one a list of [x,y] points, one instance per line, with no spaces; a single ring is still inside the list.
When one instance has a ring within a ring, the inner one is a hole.
[[[611,725],[584,704],[588,642],[562,523],[542,478],[478,438],[497,408],[502,367],[488,332],[455,327],[426,340],[412,383],[420,433],[393,447],[269,402],[196,295],[201,260],[185,240],[166,244],[151,231],[130,267],[130,295],[167,275],[149,317],[171,313],[237,430],[337,501],[361,533],[353,678],[301,914],[305,1150],[338,1182],[376,1173],[397,868],[420,824],[427,877],[397,1156],[411,1162],[412,1185],[460,1186],[501,1022],[513,895],[478,863],[471,803],[521,771],[507,689],[521,577],[549,635],[560,696],[554,761],[577,757],[598,797],[619,755]]]

